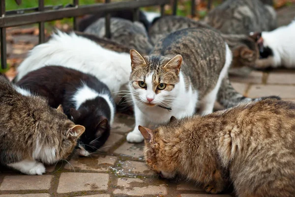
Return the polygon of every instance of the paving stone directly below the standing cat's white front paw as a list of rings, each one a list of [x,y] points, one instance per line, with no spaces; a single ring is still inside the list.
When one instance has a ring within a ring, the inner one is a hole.
[[[144,143],[123,143],[114,153],[129,156],[134,158],[143,159],[144,158]]]

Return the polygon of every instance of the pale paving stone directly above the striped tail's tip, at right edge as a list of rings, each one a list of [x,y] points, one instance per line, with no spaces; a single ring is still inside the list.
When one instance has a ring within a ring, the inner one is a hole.
[[[252,98],[262,96],[280,96],[281,98],[295,98],[295,86],[290,85],[252,85],[248,96]]]

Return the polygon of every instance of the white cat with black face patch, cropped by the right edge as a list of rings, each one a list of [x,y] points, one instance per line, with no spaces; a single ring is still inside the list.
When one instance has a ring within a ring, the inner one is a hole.
[[[251,33],[251,35],[256,35],[257,44],[261,48],[260,58],[253,67],[260,69],[280,66],[295,68],[295,20],[288,26],[269,32]]]

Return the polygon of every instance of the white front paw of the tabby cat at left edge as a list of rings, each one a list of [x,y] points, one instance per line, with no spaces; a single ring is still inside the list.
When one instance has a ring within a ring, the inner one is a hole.
[[[45,173],[44,165],[36,161],[23,160],[13,164],[7,164],[7,166],[29,175],[41,175]]]

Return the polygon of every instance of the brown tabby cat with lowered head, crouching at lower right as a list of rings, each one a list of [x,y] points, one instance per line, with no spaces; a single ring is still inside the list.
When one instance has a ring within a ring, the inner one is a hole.
[[[176,174],[217,194],[234,186],[236,197],[295,197],[295,103],[264,99],[150,130],[147,165],[164,178]]]

